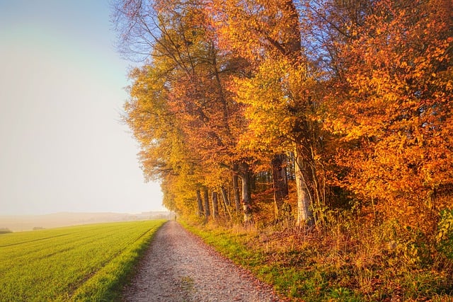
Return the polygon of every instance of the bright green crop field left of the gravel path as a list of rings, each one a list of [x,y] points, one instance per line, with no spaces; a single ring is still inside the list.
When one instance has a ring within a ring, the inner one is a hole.
[[[99,223],[0,235],[0,301],[112,301],[164,223]]]

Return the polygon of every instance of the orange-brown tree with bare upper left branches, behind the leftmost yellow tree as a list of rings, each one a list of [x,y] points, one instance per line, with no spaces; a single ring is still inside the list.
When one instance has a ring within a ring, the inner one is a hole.
[[[147,65],[161,71],[164,78],[161,88],[166,91],[164,103],[172,119],[177,121],[185,148],[188,153],[196,154],[197,165],[202,170],[199,190],[205,194],[206,187],[224,187],[229,176],[222,175],[238,175],[243,189],[244,220],[250,221],[249,158],[236,150],[245,120],[242,105],[224,88],[231,74],[242,70],[245,61],[219,53],[215,37],[205,22],[202,1],[121,1],[116,7],[124,23],[123,43],[137,44],[128,47],[132,52],[148,50]],[[153,95],[145,98],[153,101]],[[239,204],[237,194],[234,197],[236,205]],[[205,203],[206,216],[209,210]]]

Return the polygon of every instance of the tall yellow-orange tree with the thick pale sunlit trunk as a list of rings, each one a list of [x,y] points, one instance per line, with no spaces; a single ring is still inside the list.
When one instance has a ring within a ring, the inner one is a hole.
[[[243,140],[249,149],[294,153],[297,223],[311,223],[312,209],[324,201],[315,116],[319,100],[312,93],[318,75],[303,47],[297,6],[288,0],[218,0],[212,10],[220,45],[254,66],[253,76],[231,86],[247,105],[250,124]]]

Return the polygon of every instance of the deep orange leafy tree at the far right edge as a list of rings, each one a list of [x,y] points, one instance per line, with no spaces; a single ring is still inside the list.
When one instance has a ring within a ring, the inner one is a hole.
[[[359,16],[338,28],[326,116],[345,143],[345,185],[386,216],[432,228],[432,213],[451,207],[434,197],[453,180],[452,1],[372,1]]]

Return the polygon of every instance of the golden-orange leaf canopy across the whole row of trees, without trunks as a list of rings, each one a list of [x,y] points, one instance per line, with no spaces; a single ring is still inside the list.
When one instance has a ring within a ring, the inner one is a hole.
[[[453,183],[451,1],[337,2],[159,2],[165,33],[125,105],[147,171],[218,185],[220,164],[298,144],[314,174],[382,211],[416,212],[419,194]]]

